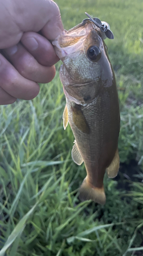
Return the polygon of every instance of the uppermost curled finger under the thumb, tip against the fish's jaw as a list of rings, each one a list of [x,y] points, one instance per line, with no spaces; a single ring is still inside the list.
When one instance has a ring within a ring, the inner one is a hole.
[[[53,66],[59,61],[51,43],[35,32],[25,32],[21,38],[22,45],[43,66]]]

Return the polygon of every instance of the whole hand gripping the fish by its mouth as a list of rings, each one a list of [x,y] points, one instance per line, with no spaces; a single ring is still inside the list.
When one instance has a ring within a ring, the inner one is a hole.
[[[30,100],[50,82],[59,60],[49,40],[63,32],[51,0],[0,0],[0,104]]]

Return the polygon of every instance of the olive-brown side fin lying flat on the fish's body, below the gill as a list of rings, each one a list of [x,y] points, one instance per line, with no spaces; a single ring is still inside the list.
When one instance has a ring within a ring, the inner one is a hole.
[[[74,106],[74,108],[72,109],[73,111],[73,122],[76,125],[76,127],[82,132],[82,133],[90,133],[90,127],[89,124],[87,122],[87,120],[85,119],[82,111],[80,110],[80,108],[76,105]]]

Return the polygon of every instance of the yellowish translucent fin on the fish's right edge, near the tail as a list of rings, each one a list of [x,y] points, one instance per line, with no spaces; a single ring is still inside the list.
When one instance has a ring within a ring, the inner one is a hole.
[[[106,172],[107,172],[107,175],[109,178],[115,178],[117,176],[119,166],[120,166],[120,158],[119,158],[119,153],[118,153],[118,148],[117,148],[115,157],[113,158],[112,162],[106,169]]]

